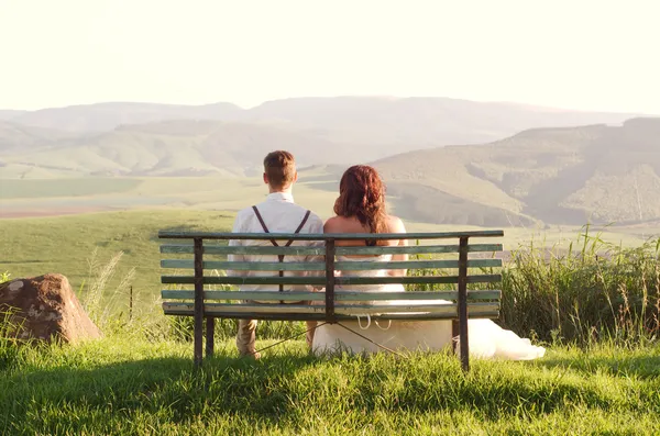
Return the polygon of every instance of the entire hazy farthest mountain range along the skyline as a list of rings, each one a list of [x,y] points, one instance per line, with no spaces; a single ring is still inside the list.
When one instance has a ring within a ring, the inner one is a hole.
[[[487,143],[532,127],[619,124],[632,116],[447,98],[337,97],[274,100],[250,110],[230,103],[99,103],[24,112],[12,122],[80,133],[172,120],[268,123],[333,143],[384,148],[375,159],[410,149]]]

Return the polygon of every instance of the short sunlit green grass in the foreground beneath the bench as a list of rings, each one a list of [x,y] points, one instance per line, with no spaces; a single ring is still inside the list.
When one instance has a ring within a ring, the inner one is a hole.
[[[262,342],[261,345],[266,344]],[[218,344],[201,372],[191,346],[114,335],[25,349],[0,372],[6,434],[657,434],[660,348],[554,348],[534,362],[446,354],[307,355],[260,361]]]

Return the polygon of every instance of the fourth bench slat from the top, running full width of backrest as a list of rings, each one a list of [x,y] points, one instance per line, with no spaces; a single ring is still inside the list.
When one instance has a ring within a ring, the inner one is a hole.
[[[419,277],[337,277],[339,286],[356,284],[420,284],[420,283],[458,283],[458,276],[419,276]],[[491,283],[501,281],[501,275],[468,276],[468,283]],[[194,284],[194,276],[162,276],[164,284]],[[324,277],[204,277],[205,284],[326,284]]]

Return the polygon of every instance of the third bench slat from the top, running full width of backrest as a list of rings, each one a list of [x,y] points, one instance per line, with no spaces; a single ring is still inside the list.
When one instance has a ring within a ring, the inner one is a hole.
[[[501,267],[502,259],[471,259],[469,268]],[[193,269],[195,261],[188,259],[163,259],[161,268]],[[336,270],[360,271],[375,269],[426,269],[426,268],[459,268],[458,260],[406,260],[406,261],[338,261]],[[324,271],[326,262],[276,262],[276,261],[222,261],[206,260],[204,269],[222,269],[234,271]]]

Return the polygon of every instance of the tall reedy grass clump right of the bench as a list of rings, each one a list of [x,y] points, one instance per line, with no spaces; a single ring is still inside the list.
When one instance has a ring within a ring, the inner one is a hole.
[[[605,243],[588,226],[568,247],[534,242],[503,268],[502,322],[543,340],[619,345],[660,334],[660,238],[636,248]]]

